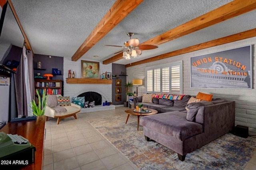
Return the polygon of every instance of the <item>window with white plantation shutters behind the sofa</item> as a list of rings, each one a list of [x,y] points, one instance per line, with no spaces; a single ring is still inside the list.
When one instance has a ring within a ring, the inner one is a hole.
[[[146,93],[182,94],[182,61],[146,68]]]

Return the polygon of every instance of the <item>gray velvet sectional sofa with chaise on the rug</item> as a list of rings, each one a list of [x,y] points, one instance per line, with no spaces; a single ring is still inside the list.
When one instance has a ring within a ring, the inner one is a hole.
[[[212,99],[211,102],[189,103],[186,111],[185,103],[189,98],[190,96],[186,95],[178,103],[168,101],[169,104],[159,99],[159,106],[157,101],[154,101],[154,105],[143,103],[148,108],[158,109],[160,114],[140,119],[145,139],[152,139],[170,148],[178,154],[181,161],[185,160],[186,154],[226,134],[235,126],[234,101]],[[135,105],[141,103],[140,97],[134,102]],[[164,102],[166,107],[163,106]]]

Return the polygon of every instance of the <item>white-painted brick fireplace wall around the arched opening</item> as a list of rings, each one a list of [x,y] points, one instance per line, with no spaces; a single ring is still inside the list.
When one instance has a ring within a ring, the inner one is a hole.
[[[85,60],[85,59],[82,59]],[[64,96],[76,97],[81,93],[87,91],[94,91],[102,95],[102,101],[112,101],[112,85],[108,84],[68,84],[66,78],[68,77],[68,70],[75,73],[75,78],[81,78],[81,59],[78,61],[71,61],[71,57],[64,57],[63,63],[63,79],[64,79]],[[105,72],[112,72],[112,64],[103,65],[100,63],[100,74]]]

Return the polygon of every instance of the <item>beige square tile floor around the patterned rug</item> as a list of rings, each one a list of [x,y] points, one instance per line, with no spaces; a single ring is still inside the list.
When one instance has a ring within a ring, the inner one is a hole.
[[[44,170],[138,170],[87,120],[125,114],[125,107],[115,110],[79,113],[59,125],[57,119],[46,122]],[[256,154],[244,170],[256,169]]]

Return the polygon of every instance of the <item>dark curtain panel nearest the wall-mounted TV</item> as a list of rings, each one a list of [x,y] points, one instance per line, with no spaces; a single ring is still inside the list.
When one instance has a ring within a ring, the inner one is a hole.
[[[24,56],[22,53],[20,59],[20,65],[18,71],[14,74],[15,90],[18,115],[28,116],[28,102],[26,95],[26,81],[25,81],[25,68],[24,68]]]

